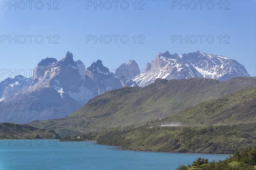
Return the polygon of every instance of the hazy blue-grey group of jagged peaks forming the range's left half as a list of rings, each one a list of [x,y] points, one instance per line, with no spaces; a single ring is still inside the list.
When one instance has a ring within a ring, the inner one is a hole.
[[[85,70],[69,51],[57,61],[42,59],[34,76],[7,78],[1,85],[0,122],[27,123],[70,115],[94,96],[124,86],[137,86],[132,80],[115,77],[101,60]]]

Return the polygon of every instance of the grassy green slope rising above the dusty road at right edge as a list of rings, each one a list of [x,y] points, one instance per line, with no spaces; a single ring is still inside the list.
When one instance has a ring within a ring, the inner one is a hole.
[[[245,88],[193,105],[187,111],[175,113],[163,123],[179,122],[182,125],[232,125],[256,122],[256,88]]]

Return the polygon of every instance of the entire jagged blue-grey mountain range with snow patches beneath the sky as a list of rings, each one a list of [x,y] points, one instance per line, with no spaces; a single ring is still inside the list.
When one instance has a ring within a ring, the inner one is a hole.
[[[142,73],[134,60],[121,64],[115,73],[99,59],[85,68],[84,63],[74,61],[73,54],[68,51],[60,61],[42,59],[33,73],[31,78],[18,75],[0,82],[0,122],[27,123],[62,118],[95,96],[122,87],[133,87],[131,91],[140,89],[138,86],[148,86],[157,78],[201,77],[227,81],[233,77],[250,77],[236,60],[200,51],[180,56],[168,51],[159,53],[145,65]],[[159,81],[165,80],[156,83]]]

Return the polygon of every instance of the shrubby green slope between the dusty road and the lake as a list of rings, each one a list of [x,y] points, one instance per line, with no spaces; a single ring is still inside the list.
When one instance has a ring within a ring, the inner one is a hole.
[[[158,152],[234,153],[256,146],[255,123],[195,127],[148,125],[101,130],[79,136],[81,140],[120,146],[124,150]]]

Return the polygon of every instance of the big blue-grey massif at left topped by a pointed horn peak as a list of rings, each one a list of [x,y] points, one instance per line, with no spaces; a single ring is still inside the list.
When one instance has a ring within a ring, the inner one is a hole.
[[[79,94],[83,83],[72,53],[68,51],[58,62],[49,58],[42,61],[34,69],[34,77],[27,81],[26,87],[8,99],[1,99],[1,122],[27,123],[35,119],[61,118],[88,101],[81,102],[77,96],[72,96],[73,93]]]

